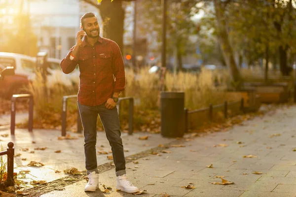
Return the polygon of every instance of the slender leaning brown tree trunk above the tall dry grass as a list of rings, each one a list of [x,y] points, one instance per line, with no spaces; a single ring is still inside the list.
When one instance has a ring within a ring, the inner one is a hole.
[[[235,84],[235,88],[239,88],[241,83],[241,75],[236,66],[233,50],[229,42],[228,33],[226,31],[226,22],[225,22],[225,6],[222,4],[220,0],[215,0],[215,12],[216,12],[216,20],[217,20],[217,34],[220,42],[220,47],[222,50],[223,57],[225,59],[225,63],[228,66],[230,71],[230,76]]]

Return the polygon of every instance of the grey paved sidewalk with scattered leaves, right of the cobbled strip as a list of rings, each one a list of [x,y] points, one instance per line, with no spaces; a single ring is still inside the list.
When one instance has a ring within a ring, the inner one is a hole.
[[[145,197],[165,193],[178,197],[296,197],[295,116],[296,106],[278,109],[273,115],[257,117],[230,131],[184,142],[185,147],[165,149],[171,153],[150,155],[139,159],[138,164],[130,162],[127,174],[133,184],[147,190],[141,195]],[[221,146],[214,146],[218,144]],[[249,155],[253,158],[244,158]],[[206,167],[210,164],[212,168]],[[254,174],[255,171],[259,174]],[[234,184],[211,184],[221,183],[217,176],[224,176]],[[114,169],[101,173],[100,183],[95,193],[85,193],[86,180],[82,180],[41,197],[133,196],[115,191]],[[196,188],[182,188],[189,183]],[[103,193],[103,184],[112,188],[110,193]]]

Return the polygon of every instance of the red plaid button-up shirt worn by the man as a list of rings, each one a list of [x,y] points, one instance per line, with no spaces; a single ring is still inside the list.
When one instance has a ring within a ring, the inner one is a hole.
[[[84,37],[76,57],[70,55],[74,47],[60,64],[64,73],[68,74],[78,64],[80,83],[77,99],[82,105],[96,106],[111,98],[113,93],[125,89],[125,72],[122,55],[118,45],[106,38],[99,37],[91,46]]]

